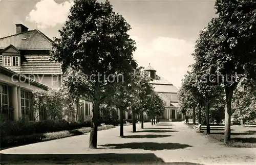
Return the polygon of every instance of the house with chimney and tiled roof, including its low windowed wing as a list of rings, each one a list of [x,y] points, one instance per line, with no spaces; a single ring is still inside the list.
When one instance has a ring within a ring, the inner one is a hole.
[[[61,65],[50,61],[52,42],[39,30],[29,31],[22,24],[16,24],[16,34],[0,38],[0,110],[4,120],[35,119],[32,91],[61,85]],[[71,121],[84,121],[92,114],[90,101],[80,100],[75,108]],[[46,120],[45,115],[38,116],[37,120]]]

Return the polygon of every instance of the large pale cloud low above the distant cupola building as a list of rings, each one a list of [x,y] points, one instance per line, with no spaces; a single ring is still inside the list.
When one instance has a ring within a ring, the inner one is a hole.
[[[188,65],[194,62],[191,54],[195,42],[178,38],[158,37],[145,40],[131,36],[136,41],[137,50],[134,58],[138,64],[147,67],[148,63],[157,70],[157,74],[176,86],[181,85],[181,79]]]

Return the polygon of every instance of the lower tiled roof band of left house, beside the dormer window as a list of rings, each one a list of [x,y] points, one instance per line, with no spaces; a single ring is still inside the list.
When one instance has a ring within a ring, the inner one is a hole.
[[[57,62],[50,61],[49,55],[25,55],[26,61],[22,66],[8,67],[8,69],[19,74],[48,74],[61,75],[61,65]]]

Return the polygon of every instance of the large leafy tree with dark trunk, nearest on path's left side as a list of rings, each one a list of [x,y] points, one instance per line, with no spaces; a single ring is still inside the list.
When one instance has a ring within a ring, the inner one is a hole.
[[[61,62],[64,73],[70,73],[66,83],[72,92],[92,97],[90,148],[97,148],[99,105],[108,95],[106,88],[137,67],[132,55],[135,42],[127,34],[130,29],[109,1],[75,0],[59,30],[60,38],[54,39],[53,59]],[[77,76],[79,81],[74,82]]]

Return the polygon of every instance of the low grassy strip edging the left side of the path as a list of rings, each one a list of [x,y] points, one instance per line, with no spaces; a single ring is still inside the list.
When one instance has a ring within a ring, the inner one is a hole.
[[[98,130],[115,128],[113,125],[106,125],[106,127],[98,127]],[[91,127],[84,127],[74,130],[59,131],[59,132],[48,132],[48,133],[36,133],[31,135],[22,136],[6,136],[1,139],[1,149],[23,146],[38,142],[45,142],[48,140],[54,140],[58,138],[65,138],[70,136],[82,135],[91,131]]]

